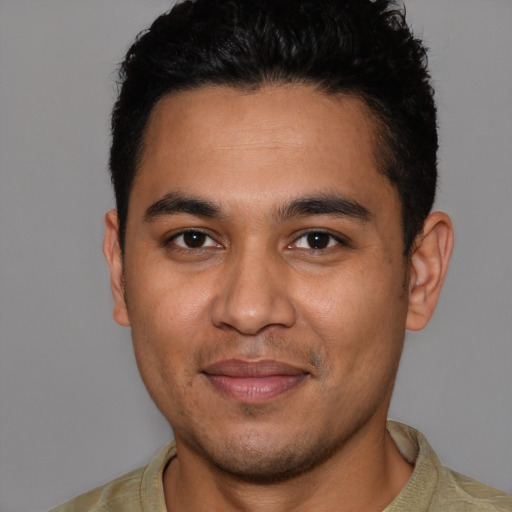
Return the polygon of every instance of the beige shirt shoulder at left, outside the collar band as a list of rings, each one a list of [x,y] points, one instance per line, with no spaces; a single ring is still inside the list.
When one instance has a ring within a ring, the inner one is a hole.
[[[51,512],[139,511],[141,483],[146,468],[139,468],[108,484],[81,494]]]

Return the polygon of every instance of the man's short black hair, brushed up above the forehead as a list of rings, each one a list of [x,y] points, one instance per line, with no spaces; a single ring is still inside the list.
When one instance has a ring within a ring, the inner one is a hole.
[[[436,107],[426,49],[396,1],[186,0],[138,35],[119,76],[110,171],[122,250],[153,108],[208,85],[304,84],[362,99],[377,121],[379,170],[402,203],[405,254],[421,232],[436,192]]]

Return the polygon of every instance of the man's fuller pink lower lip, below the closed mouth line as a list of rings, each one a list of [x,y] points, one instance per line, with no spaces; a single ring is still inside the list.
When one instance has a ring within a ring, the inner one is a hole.
[[[243,403],[257,404],[297,387],[306,377],[300,375],[271,375],[268,377],[229,377],[205,374],[215,389]]]

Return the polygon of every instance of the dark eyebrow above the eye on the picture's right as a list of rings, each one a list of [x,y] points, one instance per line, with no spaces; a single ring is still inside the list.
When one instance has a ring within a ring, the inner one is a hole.
[[[365,222],[371,217],[370,211],[363,205],[337,194],[320,194],[294,199],[278,208],[276,212],[276,218],[279,221],[307,215],[332,215]]]

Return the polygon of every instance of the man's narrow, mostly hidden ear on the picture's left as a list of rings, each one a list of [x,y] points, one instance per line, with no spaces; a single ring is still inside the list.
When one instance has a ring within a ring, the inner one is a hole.
[[[110,270],[110,288],[114,297],[114,320],[119,325],[129,326],[130,320],[124,298],[123,257],[119,243],[119,220],[115,210],[110,210],[105,215],[103,254]]]

